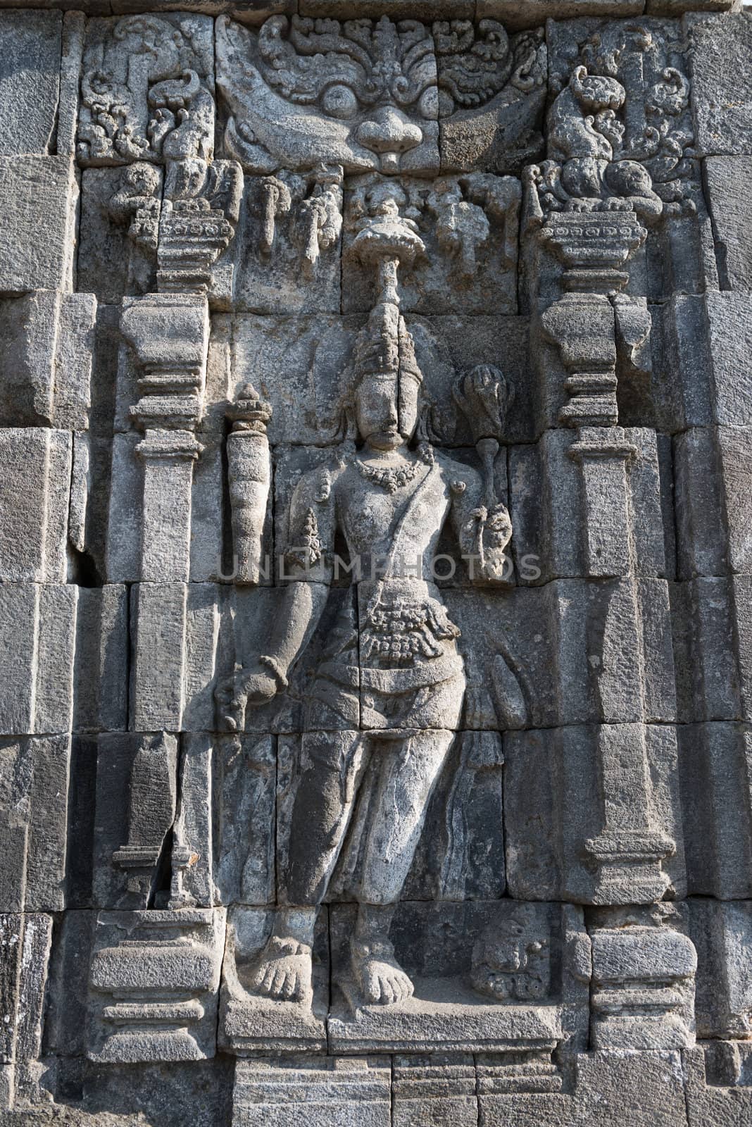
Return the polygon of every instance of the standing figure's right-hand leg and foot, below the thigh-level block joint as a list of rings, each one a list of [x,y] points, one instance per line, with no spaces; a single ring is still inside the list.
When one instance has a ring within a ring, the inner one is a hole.
[[[413,992],[394,958],[390,924],[454,735],[429,729],[374,751],[384,760],[366,841],[358,921],[350,941],[352,969],[368,1002],[391,1005],[404,1002]]]

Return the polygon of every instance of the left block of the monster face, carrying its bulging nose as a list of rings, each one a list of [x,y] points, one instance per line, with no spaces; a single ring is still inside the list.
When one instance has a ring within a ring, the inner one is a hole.
[[[225,147],[253,172],[438,170],[430,30],[417,20],[217,20]]]

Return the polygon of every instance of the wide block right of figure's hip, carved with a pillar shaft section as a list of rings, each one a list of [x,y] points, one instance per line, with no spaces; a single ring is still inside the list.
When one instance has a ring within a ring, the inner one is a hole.
[[[448,591],[446,603],[480,713],[502,729],[675,716],[664,580],[557,579],[505,594]]]

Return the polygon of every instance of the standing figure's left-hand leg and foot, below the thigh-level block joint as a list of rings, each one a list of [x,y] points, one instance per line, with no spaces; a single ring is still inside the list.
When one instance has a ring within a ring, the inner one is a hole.
[[[362,752],[357,731],[302,737],[286,887],[252,977],[260,994],[290,1002],[312,997],[313,929],[352,815]]]

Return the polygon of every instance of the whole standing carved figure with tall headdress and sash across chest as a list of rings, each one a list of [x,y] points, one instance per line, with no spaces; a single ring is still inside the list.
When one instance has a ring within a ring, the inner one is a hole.
[[[414,446],[421,382],[399,308],[381,301],[356,346],[339,460],[305,474],[293,496],[293,578],[271,644],[217,690],[229,727],[242,730],[248,704],[285,689],[324,609],[342,533],[357,612],[342,613],[308,691],[284,899],[251,976],[251,990],[272,999],[312,999],[314,923],[343,846],[358,854],[350,938],[358,993],[390,1005],[413,992],[390,923],[465,692],[459,630],[432,582],[432,560],[449,523],[460,553],[472,557],[471,578],[502,583],[511,536],[507,508],[489,506],[476,470],[426,438]]]

